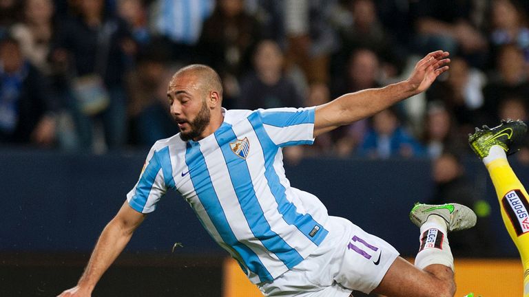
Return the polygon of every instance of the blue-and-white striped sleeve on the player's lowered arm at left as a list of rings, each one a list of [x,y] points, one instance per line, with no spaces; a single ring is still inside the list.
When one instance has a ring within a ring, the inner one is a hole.
[[[156,209],[156,203],[160,201],[166,191],[167,186],[163,177],[162,163],[153,147],[147,155],[140,179],[127,194],[127,201],[138,212],[153,212]]]

